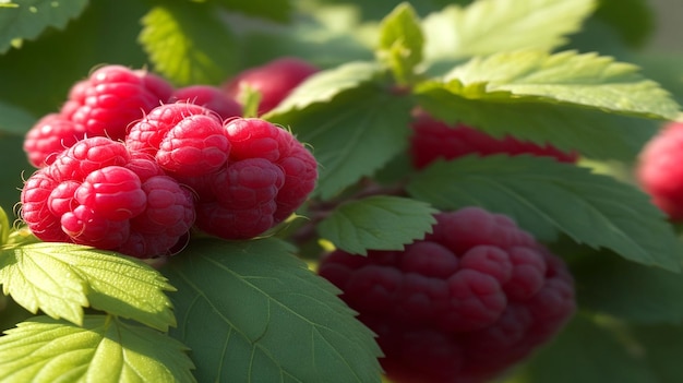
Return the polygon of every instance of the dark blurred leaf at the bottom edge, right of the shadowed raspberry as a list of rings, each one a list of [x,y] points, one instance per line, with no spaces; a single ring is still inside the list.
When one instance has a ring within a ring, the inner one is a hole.
[[[619,328],[577,315],[524,366],[515,383],[658,382],[627,346]]]

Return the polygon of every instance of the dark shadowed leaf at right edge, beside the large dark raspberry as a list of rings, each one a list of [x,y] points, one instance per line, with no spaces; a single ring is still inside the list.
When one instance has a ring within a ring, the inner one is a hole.
[[[572,267],[584,310],[631,323],[683,322],[683,275],[594,253]],[[637,284],[634,284],[637,280]]]

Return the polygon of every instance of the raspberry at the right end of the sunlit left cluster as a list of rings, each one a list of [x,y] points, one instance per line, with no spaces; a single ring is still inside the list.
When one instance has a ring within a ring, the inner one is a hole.
[[[256,118],[226,120],[227,167],[197,185],[196,226],[226,239],[255,237],[291,215],[313,191],[317,164],[288,131]]]

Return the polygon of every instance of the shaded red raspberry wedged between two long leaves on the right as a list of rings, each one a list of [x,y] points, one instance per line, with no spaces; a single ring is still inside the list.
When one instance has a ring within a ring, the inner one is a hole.
[[[499,140],[464,124],[448,125],[423,111],[416,113],[411,127],[410,151],[412,164],[418,169],[436,158],[454,159],[469,154],[532,154],[554,157],[563,163],[575,163],[578,158],[576,153],[565,153],[552,145],[540,146],[512,136]]]

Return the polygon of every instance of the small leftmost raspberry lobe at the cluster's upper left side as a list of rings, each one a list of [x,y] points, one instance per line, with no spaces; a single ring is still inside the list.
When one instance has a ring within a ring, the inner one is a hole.
[[[82,140],[83,127],[59,113],[49,113],[39,119],[26,133],[24,152],[28,163],[36,168],[50,165],[57,154]]]

